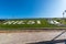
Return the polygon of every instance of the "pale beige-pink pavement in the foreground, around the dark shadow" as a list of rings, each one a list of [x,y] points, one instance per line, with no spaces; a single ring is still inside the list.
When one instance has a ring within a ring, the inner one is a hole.
[[[0,33],[0,44],[26,44],[42,41],[51,41],[64,30],[52,30],[41,32]],[[66,33],[55,40],[66,38]]]

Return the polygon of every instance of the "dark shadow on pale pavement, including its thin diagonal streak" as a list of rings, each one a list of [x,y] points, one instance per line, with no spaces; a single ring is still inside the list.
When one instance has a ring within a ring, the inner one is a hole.
[[[43,41],[43,42],[35,42],[35,43],[28,43],[28,44],[57,44],[57,43],[61,43],[61,44],[64,43],[64,44],[66,44],[66,38],[65,40],[56,40],[57,37],[59,37],[65,32],[66,32],[66,30],[63,31],[61,34],[58,34],[57,36],[55,36],[51,41]]]

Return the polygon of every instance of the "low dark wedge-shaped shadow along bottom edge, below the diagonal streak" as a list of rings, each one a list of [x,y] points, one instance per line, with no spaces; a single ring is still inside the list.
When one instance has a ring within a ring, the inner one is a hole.
[[[29,44],[66,44],[66,40],[44,41]]]

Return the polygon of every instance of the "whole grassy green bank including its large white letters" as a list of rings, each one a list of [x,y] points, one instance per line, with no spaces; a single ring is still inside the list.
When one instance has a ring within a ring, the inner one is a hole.
[[[4,19],[0,20],[0,29],[26,29],[26,28],[66,28],[66,19]]]

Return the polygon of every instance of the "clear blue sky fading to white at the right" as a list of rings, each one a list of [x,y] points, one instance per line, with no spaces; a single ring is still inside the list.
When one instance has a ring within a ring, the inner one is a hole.
[[[66,0],[0,0],[0,19],[62,18],[64,10]]]

